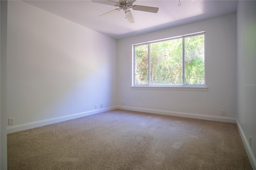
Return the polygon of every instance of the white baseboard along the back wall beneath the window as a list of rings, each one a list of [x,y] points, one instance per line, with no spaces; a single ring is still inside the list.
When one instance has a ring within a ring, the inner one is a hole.
[[[160,114],[160,115],[188,117],[188,118],[203,119],[203,120],[208,120],[208,121],[236,123],[236,118],[231,118],[231,117],[199,115],[199,114],[194,114],[194,113],[162,111],[162,110],[155,110],[155,109],[144,109],[144,108],[137,108],[137,107],[127,107],[127,106],[118,106],[118,109],[129,110],[129,111],[139,111],[139,112],[146,112],[146,113],[155,113],[155,114]]]

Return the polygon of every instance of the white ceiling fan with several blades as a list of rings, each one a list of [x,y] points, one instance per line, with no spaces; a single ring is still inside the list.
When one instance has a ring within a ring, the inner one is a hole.
[[[114,12],[118,12],[120,10],[124,10],[125,16],[129,23],[134,23],[134,18],[132,16],[132,12],[130,9],[138,10],[138,11],[145,11],[145,12],[153,12],[157,13],[159,8],[151,7],[151,6],[141,6],[141,5],[133,5],[136,0],[118,0],[118,2],[112,0],[92,0],[92,2],[96,2],[99,4],[111,5],[111,6],[118,6],[119,8],[107,12],[105,14],[100,15],[99,17],[105,17]]]

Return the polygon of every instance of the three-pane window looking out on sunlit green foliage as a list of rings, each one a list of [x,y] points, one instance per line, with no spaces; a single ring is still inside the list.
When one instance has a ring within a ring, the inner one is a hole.
[[[133,46],[134,86],[205,86],[204,33]]]

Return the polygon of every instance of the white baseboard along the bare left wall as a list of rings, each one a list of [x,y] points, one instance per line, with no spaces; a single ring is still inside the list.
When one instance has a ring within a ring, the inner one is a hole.
[[[42,126],[45,126],[45,125],[50,125],[50,124],[58,123],[58,122],[62,122],[62,121],[68,121],[68,120],[76,119],[76,118],[79,118],[79,117],[94,115],[94,114],[97,114],[97,113],[111,111],[111,110],[114,110],[114,109],[118,109],[118,107],[117,106],[106,107],[106,108],[101,108],[101,109],[95,109],[95,110],[92,110],[92,111],[86,111],[86,112],[82,112],[82,113],[75,113],[75,114],[72,114],[72,115],[66,115],[66,116],[62,116],[62,117],[56,117],[56,118],[52,118],[52,119],[46,119],[46,120],[42,120],[42,121],[26,123],[26,124],[23,124],[23,125],[16,125],[16,126],[12,126],[12,127],[7,127],[7,134],[22,131],[22,130],[28,130],[28,129],[36,128],[36,127],[42,127]]]

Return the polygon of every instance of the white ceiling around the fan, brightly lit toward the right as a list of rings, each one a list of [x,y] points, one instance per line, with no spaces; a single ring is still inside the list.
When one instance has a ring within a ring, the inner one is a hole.
[[[112,0],[118,1],[118,0]],[[134,5],[158,7],[157,13],[132,10],[129,24],[123,10],[100,18],[116,6],[91,0],[24,0],[24,2],[115,39],[136,36],[236,12],[234,0],[136,0]]]

